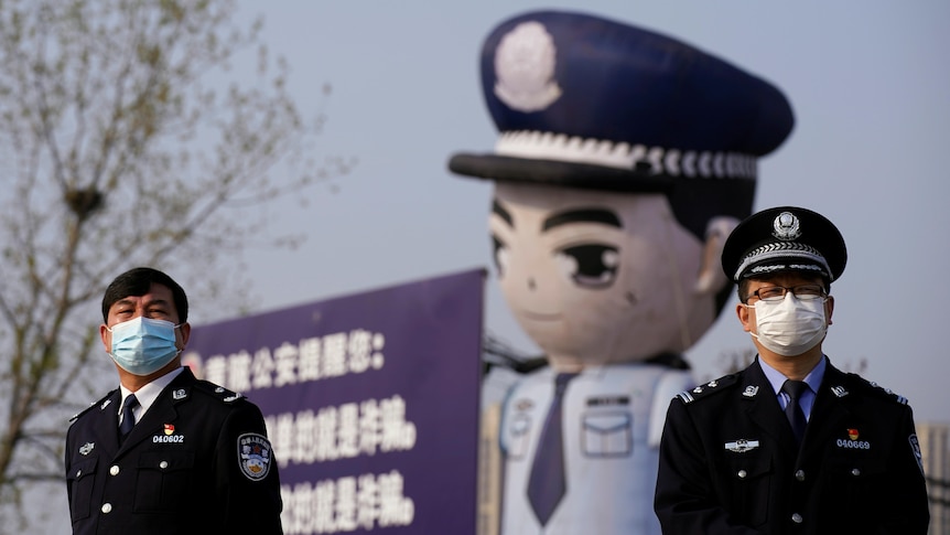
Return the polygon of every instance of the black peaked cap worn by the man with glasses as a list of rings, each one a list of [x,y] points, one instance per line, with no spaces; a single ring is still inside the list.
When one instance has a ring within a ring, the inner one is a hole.
[[[848,263],[841,232],[823,215],[798,206],[763,210],[730,234],[722,253],[726,277],[740,281],[776,272],[838,280]]]

